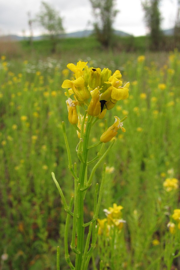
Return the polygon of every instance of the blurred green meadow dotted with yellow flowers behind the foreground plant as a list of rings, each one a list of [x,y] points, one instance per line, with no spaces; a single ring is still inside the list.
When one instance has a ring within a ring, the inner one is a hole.
[[[174,214],[180,209],[180,53],[148,52],[144,37],[129,41],[125,38],[114,50],[104,51],[92,37],[66,39],[59,41],[54,55],[49,41],[0,44],[1,270],[56,269],[57,246],[60,269],[70,269],[64,258],[67,213],[51,172],[69,203],[74,181],[62,121],[77,168],[79,139],[68,121],[61,85],[72,78],[67,64],[79,60],[112,73],[120,70],[123,84],[130,82],[129,98],[118,101],[104,118],[109,127],[114,116],[128,116],[123,122],[126,132],[118,131],[105,158],[99,213],[103,220],[103,210],[116,203],[123,207],[126,222],[110,230],[100,224],[88,269],[180,269],[180,210]],[[104,133],[104,119],[94,125],[91,144]],[[102,167],[86,195],[84,222],[92,219]],[[69,243],[71,228],[72,220]],[[70,247],[69,253],[74,262]]]

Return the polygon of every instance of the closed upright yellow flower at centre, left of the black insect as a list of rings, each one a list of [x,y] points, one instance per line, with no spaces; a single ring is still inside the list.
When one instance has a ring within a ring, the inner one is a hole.
[[[91,101],[88,106],[88,114],[91,116],[98,116],[101,113],[101,103],[100,103],[100,91],[95,88],[91,92]]]

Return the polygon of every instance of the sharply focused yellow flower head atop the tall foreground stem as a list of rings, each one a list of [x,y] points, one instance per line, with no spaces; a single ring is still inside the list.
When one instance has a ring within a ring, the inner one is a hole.
[[[62,88],[66,88],[65,95],[68,110],[68,120],[72,125],[80,127],[82,116],[77,112],[79,105],[87,110],[87,114],[102,119],[106,110],[112,109],[117,101],[127,99],[129,96],[129,82],[122,86],[121,73],[116,70],[113,75],[108,68],[88,67],[88,62],[68,64],[67,68],[73,71],[73,80],[65,79]],[[70,96],[73,95],[73,99]],[[122,128],[122,122],[115,116],[115,123],[101,136],[101,142],[108,142]],[[78,134],[79,136],[79,134]]]

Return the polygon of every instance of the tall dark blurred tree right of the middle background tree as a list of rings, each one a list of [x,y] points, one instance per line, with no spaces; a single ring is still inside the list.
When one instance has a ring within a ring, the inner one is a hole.
[[[161,0],[145,0],[142,2],[145,11],[146,26],[150,32],[151,49],[160,49],[163,33],[161,31],[161,13],[159,3]]]

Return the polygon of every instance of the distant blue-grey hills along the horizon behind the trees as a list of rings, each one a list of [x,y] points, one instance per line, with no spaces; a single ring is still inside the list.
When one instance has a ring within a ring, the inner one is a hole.
[[[166,29],[163,30],[164,35],[170,36],[173,35],[174,29]],[[121,37],[129,37],[132,36],[126,32],[115,30],[114,31],[115,35],[121,36]],[[61,38],[84,38],[84,37],[89,37],[90,35],[93,34],[93,30],[83,30],[83,31],[77,31],[77,32],[72,32],[72,33],[65,33],[60,35]],[[37,40],[42,40],[46,36],[41,35],[41,36],[35,36],[33,37],[34,41]],[[0,36],[0,41],[21,41],[21,40],[27,40],[29,37],[22,37],[18,35],[6,35],[6,36]]]

